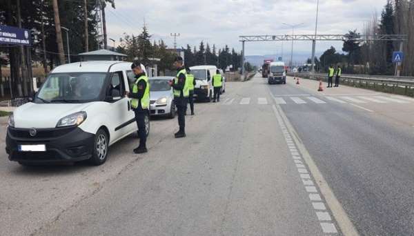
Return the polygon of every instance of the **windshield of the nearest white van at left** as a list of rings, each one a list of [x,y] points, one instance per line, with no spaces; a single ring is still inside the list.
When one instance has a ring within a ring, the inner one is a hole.
[[[36,103],[73,103],[96,101],[101,93],[106,73],[50,74],[39,90]]]

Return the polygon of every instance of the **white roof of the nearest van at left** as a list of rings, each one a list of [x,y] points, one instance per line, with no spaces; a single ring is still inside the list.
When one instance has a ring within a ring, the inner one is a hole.
[[[110,66],[114,64],[117,64],[117,66],[128,66],[130,68],[131,63],[127,61],[82,61],[58,66],[52,70],[52,73],[108,72]]]

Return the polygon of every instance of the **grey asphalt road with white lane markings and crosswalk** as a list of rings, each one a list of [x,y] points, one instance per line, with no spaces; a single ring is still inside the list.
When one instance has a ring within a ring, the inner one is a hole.
[[[414,100],[228,83],[185,139],[155,119],[108,162],[23,168],[0,130],[1,235],[413,235]]]

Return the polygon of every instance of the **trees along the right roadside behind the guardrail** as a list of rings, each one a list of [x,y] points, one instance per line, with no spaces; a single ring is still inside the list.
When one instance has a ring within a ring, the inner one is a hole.
[[[364,24],[362,33],[350,30],[346,37],[359,35],[406,35],[403,43],[404,61],[402,75],[414,76],[414,0],[388,0],[381,16],[373,14],[371,21]],[[371,75],[394,75],[394,51],[400,50],[398,41],[353,41],[344,40],[339,53],[331,46],[315,63],[317,71],[326,72],[330,65],[341,65],[346,73]],[[308,62],[311,59],[308,59]]]

